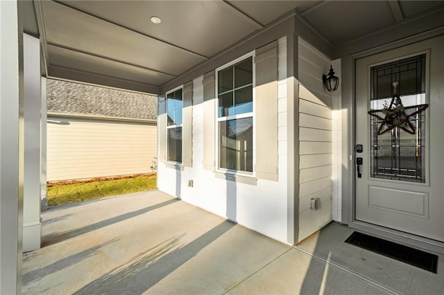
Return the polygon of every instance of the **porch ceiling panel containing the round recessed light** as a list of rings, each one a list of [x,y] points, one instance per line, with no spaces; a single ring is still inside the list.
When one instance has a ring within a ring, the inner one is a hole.
[[[62,3],[207,57],[258,28],[223,1],[107,1],[105,5],[103,1]],[[151,16],[160,17],[162,23],[151,23]]]

